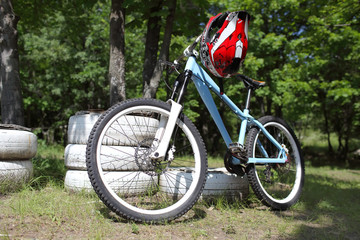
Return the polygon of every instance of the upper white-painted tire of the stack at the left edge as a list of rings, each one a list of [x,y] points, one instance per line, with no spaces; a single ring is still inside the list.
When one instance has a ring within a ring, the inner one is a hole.
[[[37,137],[32,132],[0,129],[0,160],[27,160],[37,151]]]

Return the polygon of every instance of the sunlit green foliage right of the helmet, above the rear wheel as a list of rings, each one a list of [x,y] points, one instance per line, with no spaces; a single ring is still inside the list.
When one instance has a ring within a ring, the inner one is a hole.
[[[338,148],[329,140],[329,150],[346,159],[360,130],[358,2],[211,3],[219,12],[246,9],[253,17],[243,72],[268,85],[257,91],[253,115],[282,116],[299,132],[311,127],[336,134]],[[237,90],[239,84],[229,85]]]

